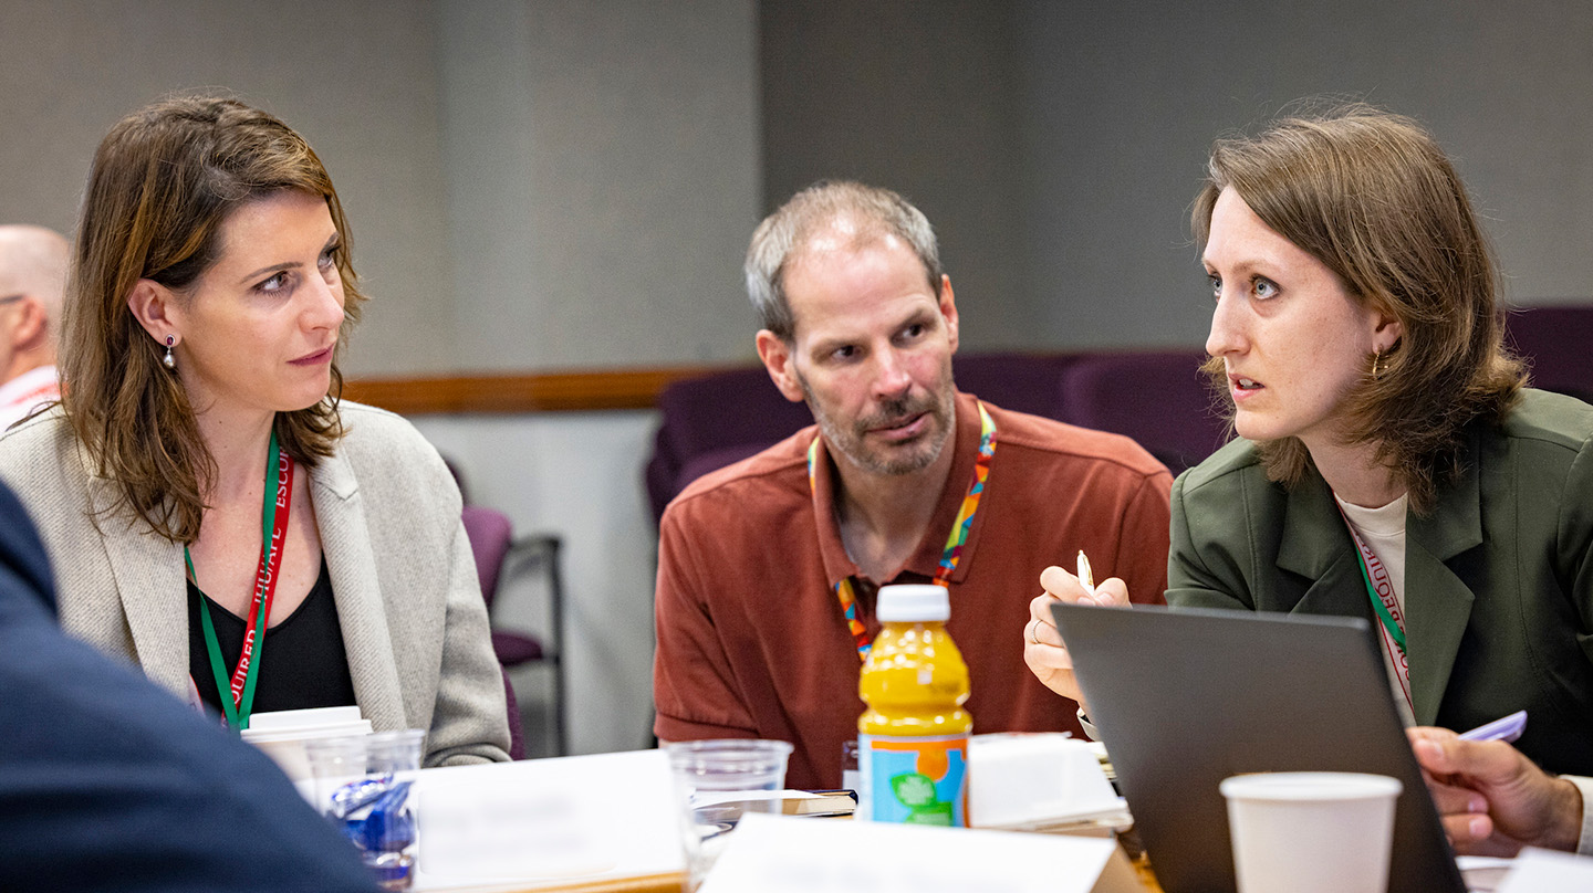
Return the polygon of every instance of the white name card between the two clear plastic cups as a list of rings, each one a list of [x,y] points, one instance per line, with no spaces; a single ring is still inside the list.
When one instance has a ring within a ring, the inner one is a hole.
[[[685,869],[658,750],[425,769],[416,888],[516,890]]]

